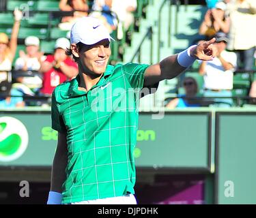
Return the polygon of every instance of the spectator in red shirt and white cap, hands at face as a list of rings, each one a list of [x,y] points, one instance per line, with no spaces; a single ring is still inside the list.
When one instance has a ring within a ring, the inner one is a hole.
[[[53,55],[48,55],[40,67],[43,74],[43,84],[40,93],[51,95],[57,85],[74,78],[78,74],[77,64],[66,55],[70,41],[66,38],[56,40]]]

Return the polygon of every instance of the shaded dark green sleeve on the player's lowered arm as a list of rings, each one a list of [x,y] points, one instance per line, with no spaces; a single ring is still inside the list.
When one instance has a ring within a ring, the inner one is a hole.
[[[63,123],[61,114],[59,113],[59,108],[57,106],[57,101],[55,97],[55,91],[52,95],[51,102],[51,119],[52,119],[52,128],[59,132],[66,132],[66,127]]]

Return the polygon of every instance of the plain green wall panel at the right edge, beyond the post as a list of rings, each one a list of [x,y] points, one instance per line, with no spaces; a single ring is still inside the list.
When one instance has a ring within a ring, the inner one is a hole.
[[[255,115],[255,112],[218,115],[218,204],[256,204]]]

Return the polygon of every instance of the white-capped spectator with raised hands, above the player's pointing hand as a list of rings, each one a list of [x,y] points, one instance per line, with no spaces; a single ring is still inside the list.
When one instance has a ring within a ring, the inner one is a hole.
[[[225,16],[226,9],[226,4],[219,1],[214,8],[206,12],[199,28],[199,34],[205,35],[205,40],[211,39],[219,31],[229,33],[230,19],[228,16]]]

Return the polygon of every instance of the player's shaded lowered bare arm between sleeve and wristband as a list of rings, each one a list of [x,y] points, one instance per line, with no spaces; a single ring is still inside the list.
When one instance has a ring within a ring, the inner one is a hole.
[[[66,180],[68,150],[66,134],[58,132],[58,142],[51,175],[51,191],[62,193],[62,184]]]

